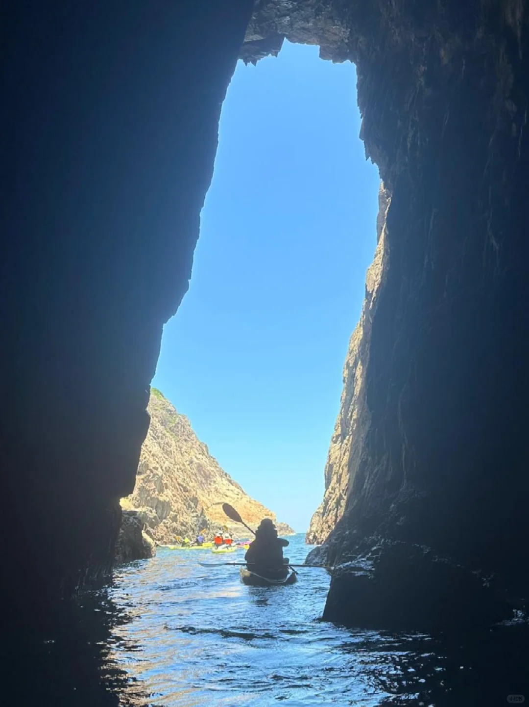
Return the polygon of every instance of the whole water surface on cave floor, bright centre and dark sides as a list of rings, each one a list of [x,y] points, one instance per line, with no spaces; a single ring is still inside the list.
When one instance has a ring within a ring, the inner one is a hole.
[[[301,562],[309,547],[290,538]],[[243,551],[159,549],[117,568],[4,645],[3,703],[31,707],[494,707],[529,701],[523,621],[465,636],[347,629],[321,621],[330,576],[299,569],[252,588]],[[214,563],[203,567],[200,562]],[[22,634],[21,634],[22,636]]]

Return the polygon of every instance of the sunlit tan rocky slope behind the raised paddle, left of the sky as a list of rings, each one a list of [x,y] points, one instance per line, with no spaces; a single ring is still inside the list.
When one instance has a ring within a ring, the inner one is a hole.
[[[146,532],[157,543],[170,544],[177,536],[194,539],[199,530],[206,528],[212,534],[224,526],[234,537],[246,537],[242,525],[226,518],[222,503],[237,508],[250,527],[262,518],[275,521],[271,510],[250,498],[220,468],[186,416],[159,390],[151,390],[147,409],[150,426],[141,448],[136,486],[122,503],[138,511]],[[278,524],[278,530],[293,532],[284,523]]]

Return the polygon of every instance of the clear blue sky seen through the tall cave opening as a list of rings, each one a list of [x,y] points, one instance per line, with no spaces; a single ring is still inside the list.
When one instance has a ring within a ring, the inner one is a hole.
[[[379,177],[358,134],[352,64],[286,42],[277,58],[239,62],[191,285],[153,380],[225,471],[297,531],[323,497],[376,245]]]

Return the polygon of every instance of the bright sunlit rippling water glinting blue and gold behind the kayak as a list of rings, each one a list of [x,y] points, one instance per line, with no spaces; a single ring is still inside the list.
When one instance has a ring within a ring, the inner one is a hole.
[[[292,539],[292,561],[307,551],[301,536]],[[208,572],[197,559],[163,549],[117,573],[114,602],[132,598],[138,613],[114,631],[111,658],[139,679],[148,703],[371,706],[395,695],[392,676],[402,677],[409,650],[318,621],[325,571],[302,570],[291,587],[246,588],[237,568]],[[401,680],[401,696],[402,688]],[[415,699],[415,690],[405,696]]]

